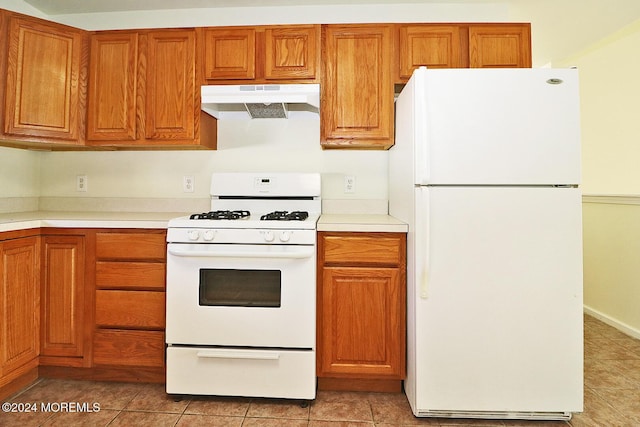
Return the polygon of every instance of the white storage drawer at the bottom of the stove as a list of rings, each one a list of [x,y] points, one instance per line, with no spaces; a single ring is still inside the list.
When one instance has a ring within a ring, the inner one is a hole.
[[[315,399],[312,350],[167,348],[167,393]]]

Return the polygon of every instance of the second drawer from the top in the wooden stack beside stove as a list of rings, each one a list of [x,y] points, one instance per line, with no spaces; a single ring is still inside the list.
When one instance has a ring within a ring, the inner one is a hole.
[[[164,284],[165,264],[162,262],[98,261],[96,263],[98,289],[164,290]]]

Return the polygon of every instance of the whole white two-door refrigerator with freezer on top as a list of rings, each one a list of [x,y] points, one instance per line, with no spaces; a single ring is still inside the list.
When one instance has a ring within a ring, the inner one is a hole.
[[[416,70],[396,101],[389,213],[409,224],[416,416],[583,408],[578,70]]]

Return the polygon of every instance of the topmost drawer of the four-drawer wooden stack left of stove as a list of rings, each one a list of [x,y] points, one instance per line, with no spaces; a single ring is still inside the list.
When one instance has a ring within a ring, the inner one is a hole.
[[[164,259],[164,233],[97,233],[97,259]]]

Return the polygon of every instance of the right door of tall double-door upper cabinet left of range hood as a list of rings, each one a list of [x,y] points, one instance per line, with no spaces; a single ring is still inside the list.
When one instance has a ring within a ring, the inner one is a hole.
[[[196,35],[157,31],[147,37],[145,130],[151,140],[193,140],[196,105]],[[199,99],[199,98],[198,98]]]

